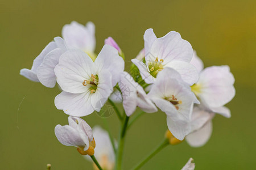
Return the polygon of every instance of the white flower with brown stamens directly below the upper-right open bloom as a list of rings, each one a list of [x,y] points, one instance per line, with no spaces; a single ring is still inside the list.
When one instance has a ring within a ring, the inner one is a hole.
[[[171,68],[161,71],[148,96],[167,114],[168,129],[174,137],[183,140],[191,132],[189,122],[193,104],[199,101],[180,74]]]

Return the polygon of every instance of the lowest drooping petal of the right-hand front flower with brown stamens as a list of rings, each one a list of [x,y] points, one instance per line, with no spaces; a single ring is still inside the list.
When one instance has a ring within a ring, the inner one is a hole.
[[[182,120],[174,120],[173,117],[167,116],[167,126],[175,138],[182,141],[186,135],[191,132],[189,122]]]

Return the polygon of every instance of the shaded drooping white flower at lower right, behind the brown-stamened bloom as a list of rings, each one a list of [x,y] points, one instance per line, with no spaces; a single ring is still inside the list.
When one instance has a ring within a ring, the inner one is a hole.
[[[189,133],[185,139],[192,147],[200,147],[205,145],[210,139],[212,134],[212,118],[213,112],[208,112],[201,106],[193,108],[192,120],[191,120],[191,133]]]

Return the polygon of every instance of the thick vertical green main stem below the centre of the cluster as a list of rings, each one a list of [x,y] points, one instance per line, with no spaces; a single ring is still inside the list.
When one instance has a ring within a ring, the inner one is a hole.
[[[122,130],[119,135],[117,156],[116,156],[116,161],[115,161],[115,163],[116,163],[115,169],[118,169],[118,170],[122,168],[123,146],[125,143],[125,134],[126,134],[126,130],[127,130],[128,121],[129,121],[129,117],[125,115],[125,121],[123,121]]]

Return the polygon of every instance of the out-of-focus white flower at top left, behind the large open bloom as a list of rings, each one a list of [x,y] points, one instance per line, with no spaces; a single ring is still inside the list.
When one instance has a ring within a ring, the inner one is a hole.
[[[67,42],[68,48],[77,48],[87,53],[93,61],[96,46],[95,25],[88,22],[85,26],[75,21],[64,25],[62,29],[63,39]]]

